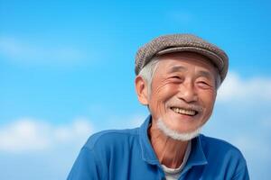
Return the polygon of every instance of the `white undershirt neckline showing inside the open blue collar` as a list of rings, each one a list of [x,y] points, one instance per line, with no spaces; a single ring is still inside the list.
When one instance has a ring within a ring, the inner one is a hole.
[[[177,180],[179,178],[182,169],[185,166],[187,159],[190,155],[190,152],[191,152],[191,141],[188,142],[181,166],[179,166],[178,168],[169,168],[167,166],[162,165],[166,180]]]

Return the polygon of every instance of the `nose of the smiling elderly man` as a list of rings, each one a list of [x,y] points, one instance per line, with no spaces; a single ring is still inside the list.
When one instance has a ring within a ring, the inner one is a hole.
[[[182,99],[186,103],[198,101],[198,94],[194,88],[194,85],[190,82],[180,85],[178,98]]]

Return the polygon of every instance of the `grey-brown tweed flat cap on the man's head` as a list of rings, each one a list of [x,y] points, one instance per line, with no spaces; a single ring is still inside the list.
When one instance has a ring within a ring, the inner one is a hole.
[[[190,51],[201,54],[210,59],[210,62],[218,68],[221,82],[225,79],[229,58],[227,54],[214,44],[192,34],[164,35],[138,49],[135,55],[135,75],[155,56],[171,52]]]

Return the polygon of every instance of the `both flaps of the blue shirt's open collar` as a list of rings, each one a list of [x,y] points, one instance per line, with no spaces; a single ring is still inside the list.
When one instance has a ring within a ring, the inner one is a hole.
[[[140,137],[140,146],[141,146],[141,153],[142,153],[142,158],[145,160],[147,163],[152,164],[152,165],[160,165],[160,162],[158,158],[156,157],[154,153],[154,148],[151,145],[151,142],[148,138],[148,128],[149,124],[152,121],[152,116],[149,115],[144,123],[141,125],[139,128],[139,137]],[[206,165],[207,159],[204,155],[203,149],[201,147],[201,136],[198,136],[194,139],[192,139],[192,149],[191,149],[191,154],[187,160],[186,166],[184,166],[184,169],[189,169],[192,166],[201,166],[201,165]]]

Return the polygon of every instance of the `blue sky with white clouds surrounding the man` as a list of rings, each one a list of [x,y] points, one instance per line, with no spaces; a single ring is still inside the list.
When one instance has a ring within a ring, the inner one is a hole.
[[[98,130],[131,128],[134,57],[154,37],[188,32],[229,54],[229,76],[203,133],[270,177],[271,3],[0,0],[0,179],[65,179]]]

